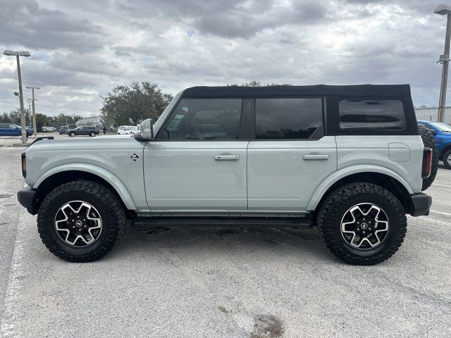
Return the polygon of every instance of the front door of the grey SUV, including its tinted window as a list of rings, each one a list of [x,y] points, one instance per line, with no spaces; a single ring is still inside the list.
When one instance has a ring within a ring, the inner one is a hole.
[[[151,211],[247,209],[241,99],[182,99],[144,147]]]

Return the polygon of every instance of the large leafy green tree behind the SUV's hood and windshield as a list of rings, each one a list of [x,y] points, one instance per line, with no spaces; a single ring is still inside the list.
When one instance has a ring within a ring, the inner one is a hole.
[[[102,99],[104,125],[136,125],[147,118],[159,118],[172,95],[161,92],[157,84],[144,81],[118,86]]]

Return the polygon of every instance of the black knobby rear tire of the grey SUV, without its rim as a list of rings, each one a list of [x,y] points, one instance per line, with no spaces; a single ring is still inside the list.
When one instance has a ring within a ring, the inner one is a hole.
[[[342,237],[340,224],[347,210],[356,204],[379,206],[388,216],[388,233],[373,249],[355,249]],[[355,182],[330,192],[321,204],[316,223],[328,249],[342,261],[353,265],[374,265],[393,256],[404,241],[407,218],[400,201],[387,189],[376,184]]]

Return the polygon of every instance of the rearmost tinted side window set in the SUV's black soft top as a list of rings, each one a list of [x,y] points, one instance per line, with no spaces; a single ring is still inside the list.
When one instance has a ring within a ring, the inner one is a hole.
[[[341,130],[404,130],[404,106],[399,100],[341,100]]]

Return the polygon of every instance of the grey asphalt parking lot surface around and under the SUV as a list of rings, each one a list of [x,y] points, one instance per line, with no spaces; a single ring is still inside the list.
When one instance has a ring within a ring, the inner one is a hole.
[[[67,137],[62,135],[61,137]],[[108,256],[49,253],[18,204],[20,139],[0,139],[2,337],[451,337],[451,170],[431,215],[376,266],[338,261],[316,228],[126,230]]]

